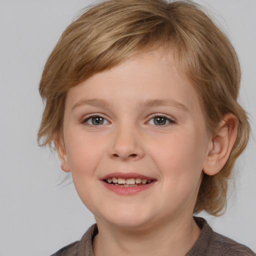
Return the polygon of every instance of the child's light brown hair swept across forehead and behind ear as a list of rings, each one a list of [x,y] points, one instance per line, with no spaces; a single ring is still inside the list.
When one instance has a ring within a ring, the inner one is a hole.
[[[177,66],[197,89],[209,133],[214,133],[226,113],[238,119],[230,156],[216,175],[203,174],[194,208],[194,212],[220,214],[234,161],[248,141],[249,123],[237,103],[240,68],[236,53],[228,38],[191,1],[108,0],[74,20],[42,72],[39,91],[46,104],[38,143],[51,145],[54,135],[61,137],[69,88],[153,45],[175,49]]]

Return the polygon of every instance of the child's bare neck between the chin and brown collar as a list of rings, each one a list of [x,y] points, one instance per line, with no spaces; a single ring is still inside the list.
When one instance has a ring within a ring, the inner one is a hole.
[[[93,240],[95,256],[181,256],[189,251],[200,234],[192,217],[136,230],[101,222],[97,225],[99,232]]]

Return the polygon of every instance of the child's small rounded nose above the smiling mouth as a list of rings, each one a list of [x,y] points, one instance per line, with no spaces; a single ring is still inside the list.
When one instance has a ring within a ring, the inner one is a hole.
[[[109,156],[120,160],[139,160],[144,156],[141,135],[135,127],[119,127],[113,132]]]

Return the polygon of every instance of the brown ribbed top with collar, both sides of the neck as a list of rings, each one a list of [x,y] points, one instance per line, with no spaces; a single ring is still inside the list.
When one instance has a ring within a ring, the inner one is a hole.
[[[184,256],[256,256],[245,245],[213,232],[207,221],[194,217],[201,233],[192,248]],[[73,242],[51,256],[94,256],[93,237],[98,233],[97,225],[92,225],[80,241]],[[157,255],[158,256],[158,255]]]

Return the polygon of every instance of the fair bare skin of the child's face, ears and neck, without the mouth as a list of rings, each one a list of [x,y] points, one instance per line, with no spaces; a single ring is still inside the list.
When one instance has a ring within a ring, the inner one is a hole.
[[[96,256],[184,255],[200,233],[192,214],[202,171],[218,172],[232,147],[235,132],[226,122],[217,139],[208,136],[194,87],[177,71],[172,53],[162,53],[137,54],[67,92],[63,141],[55,143],[62,169],[71,171],[95,216]],[[155,123],[155,115],[165,123]],[[111,172],[156,181],[120,195],[100,180]]]

